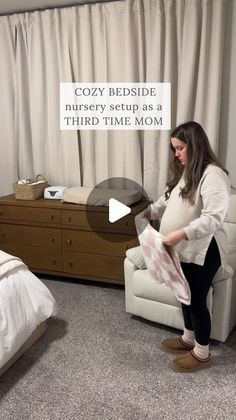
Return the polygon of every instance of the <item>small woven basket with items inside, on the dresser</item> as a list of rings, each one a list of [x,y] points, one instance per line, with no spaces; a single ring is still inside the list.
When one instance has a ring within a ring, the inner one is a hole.
[[[43,182],[34,184],[37,181]],[[17,200],[37,200],[37,198],[43,197],[46,187],[48,187],[48,182],[42,175],[27,179],[23,184],[18,184],[18,182],[14,182],[13,184],[15,198]]]

